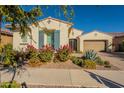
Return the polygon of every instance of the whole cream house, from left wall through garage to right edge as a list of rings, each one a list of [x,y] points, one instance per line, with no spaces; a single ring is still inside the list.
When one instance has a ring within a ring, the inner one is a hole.
[[[124,33],[121,33],[120,36],[117,33],[113,35],[115,33],[99,31],[85,34],[81,30],[72,28],[72,23],[51,17],[40,20],[38,23],[39,27],[34,24],[30,25],[32,39],[29,36],[21,38],[18,31],[13,32],[14,49],[26,48],[28,44],[32,44],[37,49],[47,44],[58,49],[60,46],[68,44],[74,51],[93,49],[112,52],[118,50],[119,42],[124,39]]]

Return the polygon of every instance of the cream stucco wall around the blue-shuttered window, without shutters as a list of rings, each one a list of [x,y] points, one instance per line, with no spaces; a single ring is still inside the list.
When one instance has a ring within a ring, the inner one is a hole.
[[[42,30],[43,27],[46,27],[47,29],[55,29],[60,30],[60,45],[66,45],[69,44],[69,37],[68,37],[68,29],[71,27],[70,24],[63,23],[61,21],[56,21],[50,19],[50,23],[48,23],[49,19],[38,21],[40,27],[36,27],[34,25],[31,25],[31,32],[32,32],[32,45],[36,48],[39,47],[39,31]],[[19,32],[14,32],[13,34],[13,48],[14,49],[21,49],[25,48],[26,45],[21,45],[22,42],[21,36]],[[28,37],[27,44],[31,44],[31,39]],[[44,36],[44,45],[47,44],[47,36],[45,34]]]

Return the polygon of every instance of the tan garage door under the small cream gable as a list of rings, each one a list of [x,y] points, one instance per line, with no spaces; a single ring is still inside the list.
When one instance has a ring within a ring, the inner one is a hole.
[[[92,50],[95,50],[95,51],[105,51],[105,47],[106,47],[106,44],[105,44],[105,41],[96,41],[96,40],[87,40],[87,41],[84,41],[84,50],[89,50],[89,49],[92,49]]]

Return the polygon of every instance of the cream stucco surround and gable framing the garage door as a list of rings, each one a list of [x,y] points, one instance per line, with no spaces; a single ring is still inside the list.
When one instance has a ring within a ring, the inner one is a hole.
[[[112,39],[113,37],[107,34],[104,34],[102,32],[98,32],[98,31],[93,31],[87,34],[84,34],[80,37],[80,51],[83,51],[83,45],[84,45],[84,40],[107,40],[108,43],[108,48],[107,51],[111,51],[112,50]]]

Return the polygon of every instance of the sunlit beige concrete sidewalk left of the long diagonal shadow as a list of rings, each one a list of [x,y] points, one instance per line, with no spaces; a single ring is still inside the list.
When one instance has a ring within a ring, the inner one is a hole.
[[[9,81],[11,73],[2,72],[2,81]],[[28,68],[16,76],[18,82],[36,86],[105,87],[83,70]]]

